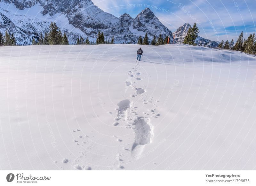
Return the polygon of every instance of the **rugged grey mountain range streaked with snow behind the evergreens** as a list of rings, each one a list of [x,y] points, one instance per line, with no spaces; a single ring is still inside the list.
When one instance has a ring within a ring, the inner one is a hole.
[[[55,22],[75,44],[79,36],[96,41],[97,33],[103,32],[105,39],[115,37],[115,43],[137,43],[139,36],[148,33],[149,40],[154,34],[170,35],[170,43],[182,43],[190,27],[184,24],[173,34],[164,26],[149,8],[141,11],[136,18],[124,13],[119,18],[102,11],[91,0],[0,0],[0,31],[15,34],[17,44],[29,45],[40,32],[48,31]],[[206,45],[210,40],[198,36],[196,43]]]

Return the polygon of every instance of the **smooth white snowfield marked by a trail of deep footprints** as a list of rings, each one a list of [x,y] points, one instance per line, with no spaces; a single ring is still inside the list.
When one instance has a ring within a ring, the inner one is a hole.
[[[0,72],[2,170],[256,169],[255,56],[15,46]]]

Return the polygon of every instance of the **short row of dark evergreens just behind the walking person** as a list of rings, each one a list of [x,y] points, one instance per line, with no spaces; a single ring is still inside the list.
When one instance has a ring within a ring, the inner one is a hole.
[[[159,37],[156,38],[156,34],[154,35],[151,43],[149,42],[149,38],[148,38],[148,33],[145,34],[144,38],[142,38],[141,36],[139,36],[138,45],[165,45],[168,43],[168,35],[165,36],[165,38],[163,39],[162,34],[160,33]]]

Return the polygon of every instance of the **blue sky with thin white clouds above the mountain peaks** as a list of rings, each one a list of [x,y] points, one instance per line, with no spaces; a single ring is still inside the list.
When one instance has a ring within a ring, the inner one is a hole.
[[[212,41],[236,41],[241,31],[246,38],[256,32],[256,0],[92,0],[103,11],[119,17],[136,17],[150,8],[172,32],[184,23],[197,22],[199,35]]]

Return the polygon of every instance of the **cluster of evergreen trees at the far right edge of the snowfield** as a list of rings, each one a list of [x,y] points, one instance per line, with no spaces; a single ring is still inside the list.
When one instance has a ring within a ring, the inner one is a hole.
[[[222,40],[218,47],[224,48],[224,49],[237,50],[237,51],[245,52],[247,54],[256,54],[255,33],[250,34],[249,37],[245,40],[244,33],[241,32],[235,45],[234,45],[233,39],[230,41],[230,43],[228,40],[225,43]]]

